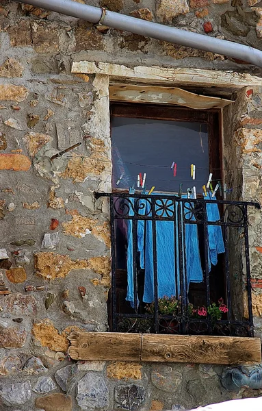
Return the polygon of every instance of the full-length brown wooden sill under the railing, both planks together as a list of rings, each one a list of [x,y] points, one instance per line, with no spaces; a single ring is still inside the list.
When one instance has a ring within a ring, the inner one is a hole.
[[[73,332],[73,360],[240,364],[261,362],[260,338]]]

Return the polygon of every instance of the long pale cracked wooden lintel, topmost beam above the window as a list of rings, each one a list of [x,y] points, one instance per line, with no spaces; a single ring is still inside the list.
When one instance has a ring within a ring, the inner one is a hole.
[[[135,66],[104,62],[73,62],[72,73],[109,75],[117,81],[133,79],[135,82],[151,84],[186,84],[187,86],[217,86],[226,88],[242,88],[246,86],[262,86],[262,78],[249,73],[233,71],[181,69],[159,66]]]

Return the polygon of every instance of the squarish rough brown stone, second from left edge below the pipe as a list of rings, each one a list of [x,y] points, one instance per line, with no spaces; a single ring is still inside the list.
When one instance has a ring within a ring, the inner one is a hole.
[[[34,23],[33,46],[37,53],[55,53],[59,50],[58,27],[51,23]]]

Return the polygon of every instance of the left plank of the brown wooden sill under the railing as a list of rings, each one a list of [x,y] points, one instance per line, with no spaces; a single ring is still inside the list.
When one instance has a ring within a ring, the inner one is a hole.
[[[73,332],[68,336],[73,360],[140,361],[142,334]]]

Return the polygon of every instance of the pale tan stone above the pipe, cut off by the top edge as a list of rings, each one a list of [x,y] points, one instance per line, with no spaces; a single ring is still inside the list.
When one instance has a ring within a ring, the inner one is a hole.
[[[157,16],[163,22],[171,23],[172,19],[179,14],[189,12],[189,7],[186,0],[158,0],[157,1]]]

